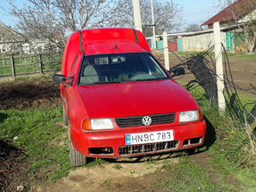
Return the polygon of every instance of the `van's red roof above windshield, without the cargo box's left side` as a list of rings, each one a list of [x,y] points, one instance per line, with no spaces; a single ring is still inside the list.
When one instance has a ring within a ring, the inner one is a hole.
[[[82,30],[82,48],[85,54],[150,51],[143,34],[128,28]]]

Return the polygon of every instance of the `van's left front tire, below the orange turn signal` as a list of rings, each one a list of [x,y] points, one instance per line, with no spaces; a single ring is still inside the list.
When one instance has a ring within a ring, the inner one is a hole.
[[[74,146],[70,138],[70,126],[69,126],[69,145],[70,145],[70,164],[71,166],[84,166],[86,165],[86,156],[80,154],[74,149]]]

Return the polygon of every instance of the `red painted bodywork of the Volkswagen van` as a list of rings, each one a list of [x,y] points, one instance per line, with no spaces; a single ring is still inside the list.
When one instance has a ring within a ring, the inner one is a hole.
[[[136,34],[138,35],[138,44],[134,37],[134,30],[131,29],[82,30],[82,48],[86,55],[150,53],[146,38],[138,30],[136,30]],[[60,86],[63,105],[66,105],[67,116],[70,120],[70,137],[75,150],[91,157],[119,157],[118,147],[126,146],[126,134],[157,130],[174,130],[174,140],[178,140],[178,148],[174,150],[202,145],[206,133],[204,120],[178,122],[179,111],[198,110],[199,106],[190,93],[171,77],[148,82],[78,86],[79,66],[82,61],[79,43],[78,32],[71,34],[66,42],[62,59],[62,74],[69,76],[71,67],[75,63],[74,66],[76,67],[71,73],[74,74],[74,82],[72,86],[67,86],[64,83]],[[115,49],[115,46],[118,49]],[[76,61],[74,62],[75,58]],[[120,128],[114,120],[118,117],[172,112],[176,113],[174,122],[148,127]],[[81,123],[85,118],[111,118],[114,129],[82,130]],[[182,146],[185,139],[198,137],[202,137],[200,143]],[[113,147],[114,154],[89,154],[89,147]]]

